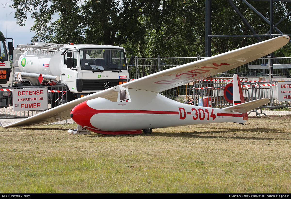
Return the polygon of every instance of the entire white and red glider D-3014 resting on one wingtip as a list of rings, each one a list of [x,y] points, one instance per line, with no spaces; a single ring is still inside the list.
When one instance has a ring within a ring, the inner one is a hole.
[[[150,133],[153,128],[190,124],[244,123],[247,111],[268,103],[269,99],[244,103],[237,76],[234,76],[234,104],[223,109],[185,105],[159,92],[251,62],[280,49],[288,41],[289,36],[279,36],[163,70],[65,103],[4,128],[47,124],[72,118],[77,124],[96,133],[139,134],[141,130]]]

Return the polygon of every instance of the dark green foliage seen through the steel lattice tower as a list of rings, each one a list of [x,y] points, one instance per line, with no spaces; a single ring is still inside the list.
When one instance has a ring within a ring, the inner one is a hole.
[[[257,34],[266,34],[270,30],[270,25],[262,19],[255,11],[241,0],[233,0],[235,6],[243,14],[246,20]],[[263,16],[270,20],[270,2],[269,1],[251,1],[251,5],[258,10]],[[274,23],[280,21],[285,14],[290,11],[290,2],[274,2]],[[228,35],[228,34],[253,34],[251,30],[243,23],[239,15],[231,8],[227,1],[212,0],[212,34]],[[283,20],[277,27],[284,33],[290,34],[290,17]],[[281,34],[276,32],[274,34]],[[270,39],[269,37],[261,37],[262,40]],[[258,42],[255,37],[214,37],[212,38],[212,54],[227,52],[236,48]],[[287,45],[290,48],[290,45]],[[287,47],[286,46],[286,47]],[[286,48],[285,47],[285,48]],[[281,54],[276,51],[275,55]],[[280,55],[281,56],[281,55]]]

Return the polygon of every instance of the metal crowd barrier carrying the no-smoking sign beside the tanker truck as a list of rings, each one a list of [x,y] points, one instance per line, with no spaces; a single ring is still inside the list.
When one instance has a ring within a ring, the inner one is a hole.
[[[68,92],[65,86],[38,86],[33,88],[43,88],[47,87],[47,99],[48,99],[48,109],[66,103],[68,101]],[[0,88],[0,119],[4,118],[26,118],[43,112],[45,110],[35,110],[35,111],[13,111],[13,99],[12,93],[16,92],[18,89],[32,88],[28,87],[3,87]]]

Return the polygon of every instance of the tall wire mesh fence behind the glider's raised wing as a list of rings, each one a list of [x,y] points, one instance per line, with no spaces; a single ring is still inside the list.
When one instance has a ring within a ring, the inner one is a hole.
[[[129,78],[136,79],[155,72],[159,72],[171,67],[204,59],[205,57],[179,57],[179,58],[134,58],[134,65],[129,66]],[[269,66],[270,63],[270,66]],[[129,59],[128,59],[129,65]],[[246,63],[232,70],[228,70],[221,74],[217,74],[212,78],[232,78],[233,74],[238,74],[239,77],[248,78],[263,78],[269,80],[270,78],[290,78],[291,74],[291,57],[277,57],[277,58],[260,58],[250,63]],[[288,79],[285,79],[288,80]],[[162,95],[177,99],[179,96],[187,96],[189,94],[188,88],[190,85],[183,85],[167,91],[161,92]],[[192,91],[190,91],[191,93]]]

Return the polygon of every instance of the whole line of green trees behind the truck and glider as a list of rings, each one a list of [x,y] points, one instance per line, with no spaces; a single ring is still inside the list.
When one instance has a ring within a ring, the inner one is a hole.
[[[213,35],[252,34],[228,1],[211,2]],[[246,3],[233,2],[256,33],[269,31],[270,25]],[[251,4],[269,18],[269,1]],[[31,13],[35,19],[31,28],[36,32],[34,41],[121,45],[141,57],[205,56],[205,0],[13,0],[11,7],[16,10],[15,18],[20,26]],[[289,2],[274,2],[274,22],[290,8]],[[277,27],[290,33],[290,17]],[[265,39],[269,38],[262,37]],[[257,41],[255,37],[213,37],[212,54]],[[291,56],[290,45],[275,55]]]

